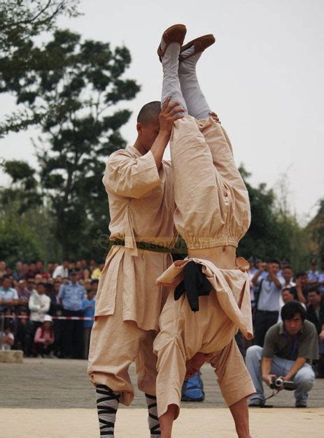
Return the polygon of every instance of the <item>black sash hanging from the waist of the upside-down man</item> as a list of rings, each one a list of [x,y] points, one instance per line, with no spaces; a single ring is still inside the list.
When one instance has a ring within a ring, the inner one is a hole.
[[[174,299],[178,300],[183,293],[187,299],[192,312],[199,310],[199,296],[209,295],[211,284],[202,272],[202,265],[189,261],[184,268],[184,279],[174,290]]]

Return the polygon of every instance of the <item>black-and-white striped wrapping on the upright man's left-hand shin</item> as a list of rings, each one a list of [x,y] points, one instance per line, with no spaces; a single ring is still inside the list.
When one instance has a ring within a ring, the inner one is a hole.
[[[100,437],[113,437],[116,412],[118,409],[120,392],[115,392],[106,385],[96,386],[97,410],[100,428]]]

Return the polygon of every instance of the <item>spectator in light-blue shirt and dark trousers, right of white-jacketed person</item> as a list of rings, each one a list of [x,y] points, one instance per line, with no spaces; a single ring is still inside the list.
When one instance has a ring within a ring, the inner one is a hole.
[[[85,288],[77,282],[77,272],[70,275],[71,282],[59,288],[59,300],[63,307],[63,316],[83,316],[82,302]],[[62,353],[63,358],[83,358],[83,321],[63,321]]]

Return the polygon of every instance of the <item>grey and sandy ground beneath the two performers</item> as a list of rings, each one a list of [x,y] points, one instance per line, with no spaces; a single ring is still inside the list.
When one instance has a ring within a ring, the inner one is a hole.
[[[85,360],[0,363],[0,437],[99,437],[94,390],[86,366]],[[129,374],[136,382],[134,367]],[[202,368],[202,379],[206,400],[183,404],[174,423],[174,438],[236,437],[230,411],[225,408],[209,365]],[[324,437],[323,379],[316,380],[307,409],[293,408],[293,393],[288,391],[276,395],[271,403],[273,409],[250,410],[253,438]],[[118,411],[116,438],[149,437],[145,407],[143,395],[136,389],[131,409]]]

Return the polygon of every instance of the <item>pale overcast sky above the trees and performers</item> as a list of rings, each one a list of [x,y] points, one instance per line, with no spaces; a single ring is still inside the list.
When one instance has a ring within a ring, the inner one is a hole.
[[[229,134],[237,164],[251,173],[253,186],[284,182],[292,212],[305,224],[324,197],[324,2],[322,0],[82,0],[81,17],[59,26],[84,38],[126,45],[132,64],[125,78],[141,92],[121,108],[133,114],[122,135],[136,138],[136,115],[160,100],[162,68],[157,45],[164,29],[183,23],[185,39],[214,34],[216,44],[197,68],[211,109]],[[0,117],[14,108],[1,96]],[[25,159],[36,166],[29,129],[0,140],[0,159]],[[169,151],[166,152],[169,154]],[[8,184],[0,174],[0,186]]]

